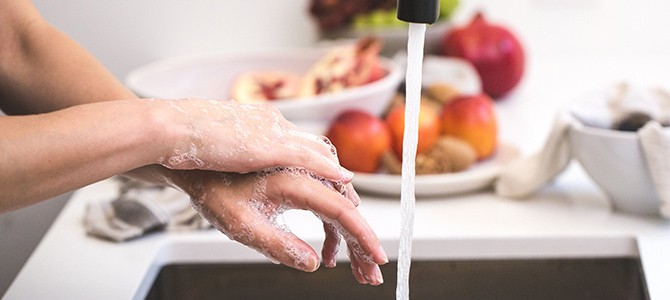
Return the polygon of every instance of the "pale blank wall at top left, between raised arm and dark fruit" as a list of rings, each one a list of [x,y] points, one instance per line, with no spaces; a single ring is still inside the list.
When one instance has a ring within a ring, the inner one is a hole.
[[[314,42],[307,0],[34,1],[122,78],[161,58]]]

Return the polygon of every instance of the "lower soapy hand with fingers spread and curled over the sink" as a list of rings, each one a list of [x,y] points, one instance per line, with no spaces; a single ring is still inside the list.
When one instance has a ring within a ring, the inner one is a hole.
[[[379,285],[379,265],[388,262],[377,236],[358,212],[360,199],[351,185],[319,179],[299,168],[277,168],[248,174],[181,171],[176,180],[194,206],[229,238],[273,261],[312,272],[319,267],[316,251],[277,217],[291,209],[312,211],[324,224],[322,257],[334,267],[340,237],[349,251],[352,272],[363,284]]]

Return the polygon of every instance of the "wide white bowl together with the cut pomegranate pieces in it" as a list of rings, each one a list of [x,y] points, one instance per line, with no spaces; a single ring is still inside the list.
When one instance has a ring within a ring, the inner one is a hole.
[[[329,52],[342,55],[341,50],[337,50],[342,47],[349,49],[345,56],[350,59],[343,69],[351,70],[365,64],[367,78],[356,70],[345,72],[349,77],[341,89],[335,90],[335,86],[331,86],[331,92],[317,93],[312,89],[311,95],[299,95],[303,84],[323,83],[315,80],[322,77],[309,74]],[[272,105],[299,126],[308,123],[309,126],[324,126],[340,112],[353,108],[380,115],[402,80],[403,70],[397,62],[378,55],[352,55],[360,47],[374,53],[373,44],[347,42],[328,47],[262,49],[171,58],[136,68],[126,78],[126,85],[147,98],[229,100],[234,95],[244,102]],[[259,77],[261,79],[256,79]],[[294,89],[296,85],[298,87]]]

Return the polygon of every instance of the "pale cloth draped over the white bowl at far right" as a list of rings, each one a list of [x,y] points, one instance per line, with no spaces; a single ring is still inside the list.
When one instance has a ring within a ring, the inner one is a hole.
[[[645,161],[661,201],[661,214],[670,217],[670,94],[660,88],[621,83],[586,95],[584,101],[560,111],[542,149],[505,167],[495,182],[498,195],[525,198],[560,174],[572,160],[569,131],[577,126],[612,128],[632,112],[648,114],[655,121],[637,131]]]

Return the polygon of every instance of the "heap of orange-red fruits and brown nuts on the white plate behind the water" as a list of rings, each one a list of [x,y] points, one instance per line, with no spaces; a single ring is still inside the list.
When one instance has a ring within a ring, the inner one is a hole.
[[[417,174],[461,172],[493,154],[497,131],[490,98],[459,94],[444,83],[432,84],[424,92],[419,113]],[[439,111],[449,112],[438,113],[436,108],[442,107]],[[330,124],[326,136],[337,148],[343,166],[357,172],[400,174],[404,113],[404,95],[399,93],[384,116],[345,112]],[[452,117],[452,113],[465,117]],[[453,133],[442,129],[445,118],[456,126]],[[472,135],[484,135],[484,142],[468,140]],[[481,149],[485,149],[483,154]]]

